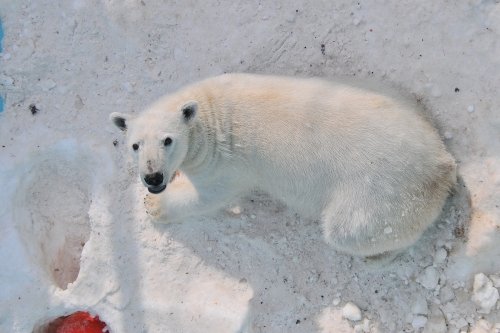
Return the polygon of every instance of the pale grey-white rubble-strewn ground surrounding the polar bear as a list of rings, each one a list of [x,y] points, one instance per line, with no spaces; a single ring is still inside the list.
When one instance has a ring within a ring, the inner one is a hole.
[[[500,332],[498,0],[0,0],[0,18],[0,332],[82,309],[113,333]],[[459,165],[442,217],[380,271],[263,193],[152,224],[108,115],[223,72],[414,94]]]

